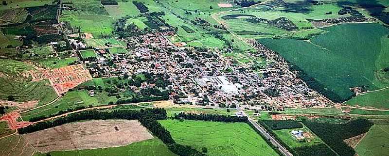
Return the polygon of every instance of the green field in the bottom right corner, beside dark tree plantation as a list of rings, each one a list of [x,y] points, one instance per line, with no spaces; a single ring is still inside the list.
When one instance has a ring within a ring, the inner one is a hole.
[[[373,125],[355,151],[359,156],[385,156],[389,153],[389,125]]]

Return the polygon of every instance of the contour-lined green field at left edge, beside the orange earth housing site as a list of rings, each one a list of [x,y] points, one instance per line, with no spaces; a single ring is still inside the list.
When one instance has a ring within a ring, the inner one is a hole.
[[[0,73],[7,75],[0,76],[0,84],[2,84],[0,99],[7,100],[7,97],[12,95],[17,102],[38,100],[39,104],[55,99],[57,94],[49,85],[48,80],[33,82],[21,75],[23,72],[33,69],[32,65],[24,62],[0,59]]]

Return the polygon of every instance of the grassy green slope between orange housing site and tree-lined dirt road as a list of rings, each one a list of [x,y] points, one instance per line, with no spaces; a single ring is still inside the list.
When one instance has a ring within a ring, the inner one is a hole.
[[[51,114],[57,114],[60,111],[66,111],[67,109],[75,109],[78,107],[89,107],[107,105],[108,102],[116,102],[117,99],[115,96],[107,96],[107,93],[96,93],[94,97],[89,96],[88,92],[85,90],[82,91],[71,91],[66,93],[58,101],[55,101],[53,104],[28,111],[21,114],[23,120],[28,121],[32,117],[40,116],[49,116]]]

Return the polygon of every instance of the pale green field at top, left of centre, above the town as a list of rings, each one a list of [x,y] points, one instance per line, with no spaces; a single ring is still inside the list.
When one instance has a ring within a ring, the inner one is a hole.
[[[137,16],[141,14],[137,7],[129,2],[118,2],[119,5],[105,5],[106,11],[110,16],[113,16],[115,19],[119,19],[123,16]]]

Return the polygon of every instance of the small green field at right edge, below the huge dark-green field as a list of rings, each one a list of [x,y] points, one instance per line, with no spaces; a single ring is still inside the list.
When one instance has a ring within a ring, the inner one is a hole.
[[[347,105],[360,107],[374,107],[378,109],[389,109],[389,89],[384,89],[368,94],[360,94],[345,102]]]

